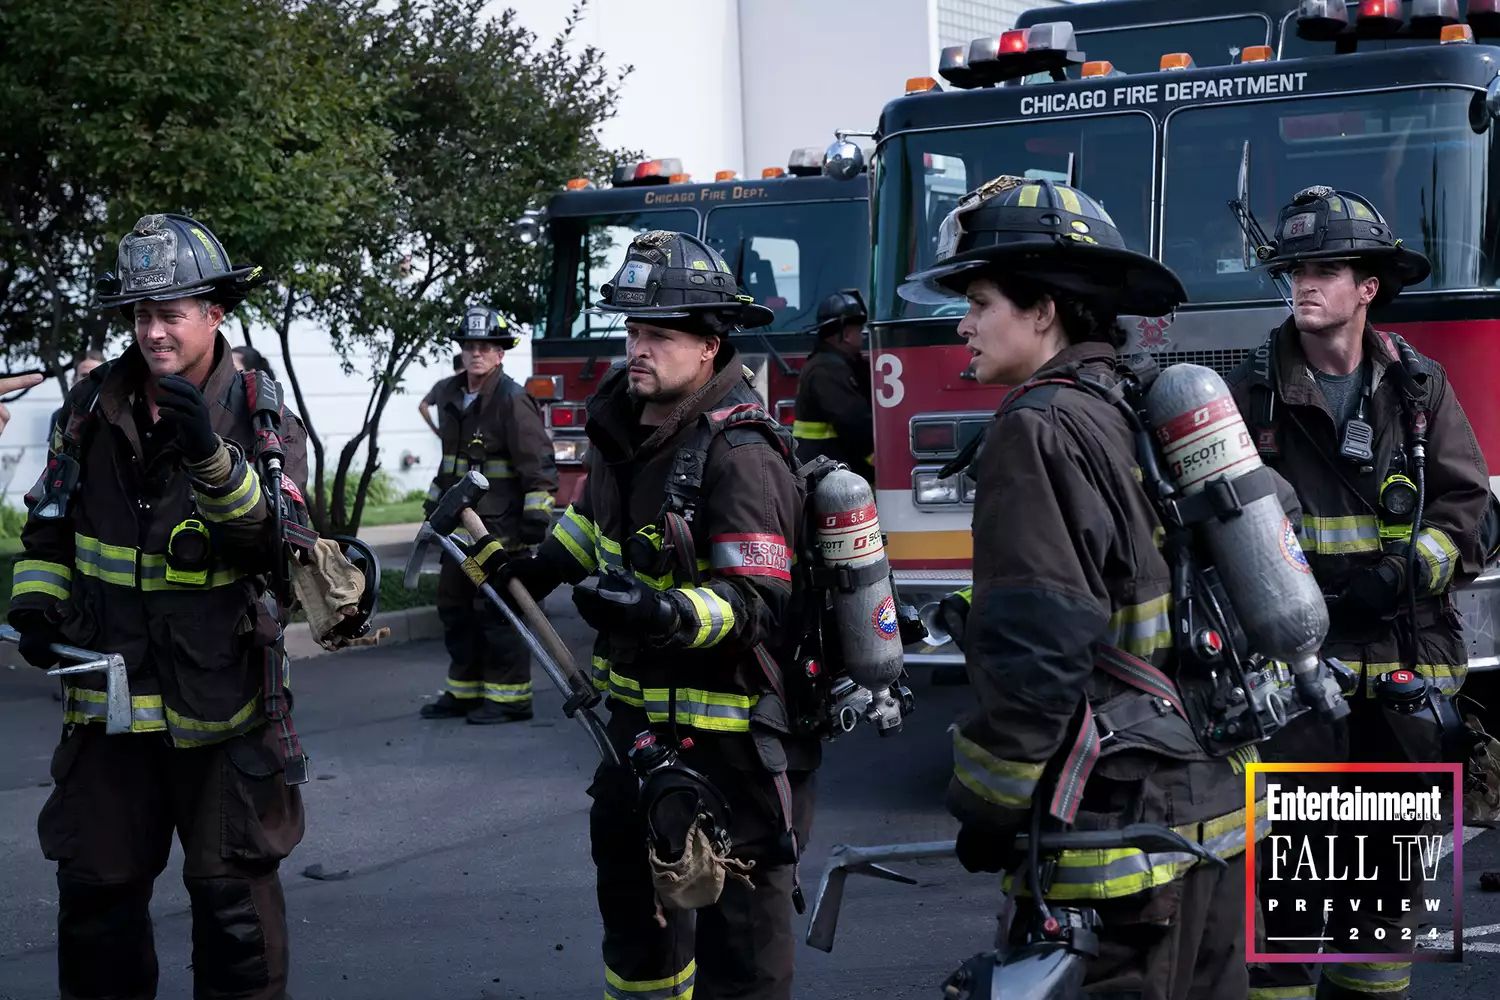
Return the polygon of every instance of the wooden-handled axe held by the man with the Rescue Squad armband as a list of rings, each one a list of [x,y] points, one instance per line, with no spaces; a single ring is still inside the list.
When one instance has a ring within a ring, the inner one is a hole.
[[[406,589],[414,589],[417,586],[417,579],[422,576],[422,564],[426,561],[428,547],[434,543],[442,550],[442,555],[453,562],[462,565],[468,555],[453,541],[452,535],[458,528],[464,528],[474,541],[483,538],[488,531],[484,522],[480,520],[478,514],[474,513],[474,504],[489,492],[489,480],[486,480],[478,472],[470,471],[462,480],[448,487],[448,490],[438,501],[436,508],[434,508],[432,516],[422,523],[422,529],[417,532],[417,541],[411,549],[411,558],[406,559],[406,573],[404,582]],[[519,609],[519,615],[512,609],[512,604],[501,598],[495,592],[495,588],[488,582],[476,585],[480,595],[495,606],[501,615],[512,624],[516,633],[525,640],[526,646],[536,654],[537,661],[542,664],[542,670],[552,681],[552,685],[562,694],[562,714],[568,718],[576,718],[588,733],[588,738],[594,741],[598,756],[604,759],[604,763],[618,765],[620,754],[615,753],[615,747],[609,742],[609,736],[604,733],[604,724],[594,714],[594,706],[598,705],[600,696],[594,690],[592,682],[585,678],[578,664],[573,661],[573,654],[568,651],[567,645],[552,628],[552,622],[548,621],[542,609],[537,607],[536,600],[522,586],[520,580],[512,580],[507,588],[510,600],[514,607]]]

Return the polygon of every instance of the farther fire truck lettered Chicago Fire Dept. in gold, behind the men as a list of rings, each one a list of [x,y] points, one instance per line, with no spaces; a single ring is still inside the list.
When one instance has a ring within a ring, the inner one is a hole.
[[[620,268],[630,240],[646,229],[692,232],[712,246],[758,303],[776,312],[764,330],[735,336],[762,399],[792,423],[796,372],[813,348],[818,303],[842,288],[864,289],[870,274],[868,178],[825,177],[822,150],[798,150],[788,168],[759,180],[723,171],[694,183],[676,160],[645,160],[615,171],[612,186],[586,180],[531,216],[544,265],[544,316],[532,343],[531,393],[544,402],[561,472],[560,501],[573,498],[588,450],[584,400],[624,358],[624,322],[591,304]]]

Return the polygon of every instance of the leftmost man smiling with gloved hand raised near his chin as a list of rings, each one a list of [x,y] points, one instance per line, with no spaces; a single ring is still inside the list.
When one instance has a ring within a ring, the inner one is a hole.
[[[38,820],[57,862],[68,1000],[156,996],[148,909],[174,829],[194,996],[286,996],[278,865],[303,835],[306,757],[280,708],[280,612],[267,595],[285,546],[219,331],[258,279],[194,219],[136,222],[99,295],[134,322],[135,343],[69,391],[52,471],[27,496],[9,612],[21,655],[51,667],[63,642],[118,654],[129,676],[128,735],[105,733],[102,673],[66,679]],[[282,439],[285,508],[304,520],[296,420]]]

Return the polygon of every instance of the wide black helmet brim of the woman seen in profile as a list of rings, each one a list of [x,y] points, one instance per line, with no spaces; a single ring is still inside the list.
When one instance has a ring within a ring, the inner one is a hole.
[[[1106,306],[1116,315],[1164,316],[1188,300],[1182,280],[1172,268],[1144,253],[1107,246],[1074,249],[1038,243],[960,253],[909,274],[897,294],[916,304],[945,304],[963,298],[969,282],[993,271],[1050,285]]]

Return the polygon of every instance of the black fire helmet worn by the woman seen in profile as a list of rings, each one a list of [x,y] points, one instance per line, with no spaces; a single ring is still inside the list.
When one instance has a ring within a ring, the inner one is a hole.
[[[898,294],[951,301],[986,271],[1134,316],[1166,315],[1188,297],[1168,267],[1125,246],[1100,202],[1046,178],[1000,175],[958,199],[938,229],[933,265],[909,274]]]

